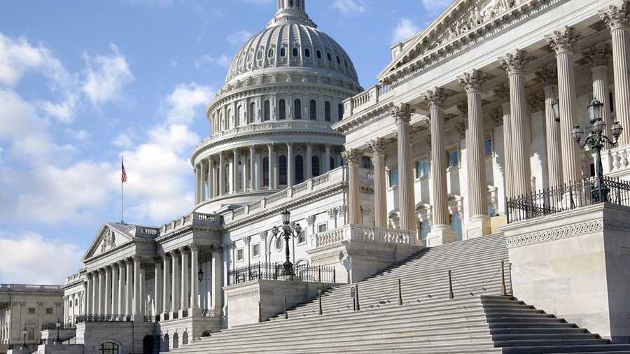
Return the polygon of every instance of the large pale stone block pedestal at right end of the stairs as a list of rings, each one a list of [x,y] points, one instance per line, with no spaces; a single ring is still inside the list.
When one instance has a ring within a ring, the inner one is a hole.
[[[598,204],[501,227],[514,296],[629,343],[629,217],[630,208]]]

